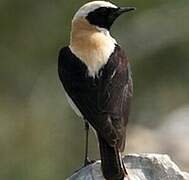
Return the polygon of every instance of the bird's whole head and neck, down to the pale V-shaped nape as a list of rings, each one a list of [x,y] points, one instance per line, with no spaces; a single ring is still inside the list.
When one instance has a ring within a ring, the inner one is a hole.
[[[69,47],[87,65],[89,75],[98,74],[115,49],[117,42],[109,33],[113,22],[134,9],[120,8],[108,1],[92,1],[76,12]]]

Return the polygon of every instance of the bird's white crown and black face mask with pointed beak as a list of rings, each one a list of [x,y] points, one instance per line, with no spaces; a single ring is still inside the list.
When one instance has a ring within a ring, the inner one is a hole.
[[[92,1],[82,6],[75,14],[73,23],[85,19],[90,25],[110,30],[114,21],[134,7],[118,7],[108,1]]]

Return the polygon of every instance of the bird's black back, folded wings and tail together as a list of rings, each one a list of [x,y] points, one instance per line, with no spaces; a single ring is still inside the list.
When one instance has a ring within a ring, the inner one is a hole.
[[[67,94],[97,132],[104,175],[122,179],[119,152],[125,147],[132,96],[131,71],[124,51],[116,45],[107,64],[93,78],[87,66],[65,47],[59,53],[58,72]]]

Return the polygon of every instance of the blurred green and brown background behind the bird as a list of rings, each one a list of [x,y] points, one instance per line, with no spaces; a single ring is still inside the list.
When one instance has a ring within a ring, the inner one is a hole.
[[[2,180],[62,180],[83,165],[83,122],[65,99],[57,55],[86,2],[0,0]],[[114,3],[137,7],[112,28],[134,79],[125,153],[168,153],[189,171],[189,1]],[[90,156],[99,158],[93,133]]]

